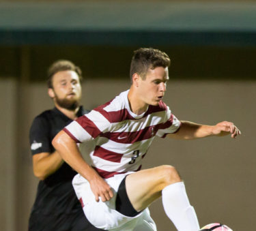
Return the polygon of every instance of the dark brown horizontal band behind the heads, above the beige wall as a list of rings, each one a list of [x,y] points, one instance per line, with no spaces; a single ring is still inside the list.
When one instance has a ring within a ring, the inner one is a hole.
[[[140,46],[0,46],[0,78],[20,78],[21,62],[27,59],[31,82],[44,81],[56,59],[72,59],[86,78],[122,78],[129,74],[133,50]],[[255,80],[256,47],[154,46],[171,57],[175,79]],[[24,55],[26,57],[24,57]]]

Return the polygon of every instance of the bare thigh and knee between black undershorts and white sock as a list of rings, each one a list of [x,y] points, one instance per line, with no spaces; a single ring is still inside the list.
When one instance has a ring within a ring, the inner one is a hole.
[[[141,211],[159,198],[167,185],[180,181],[173,166],[159,166],[128,175],[126,191],[134,209]]]

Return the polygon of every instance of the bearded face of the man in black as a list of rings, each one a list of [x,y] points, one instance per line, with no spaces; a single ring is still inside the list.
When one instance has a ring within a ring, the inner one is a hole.
[[[53,92],[55,102],[67,109],[74,109],[81,99],[79,76],[74,71],[57,72],[53,76]]]

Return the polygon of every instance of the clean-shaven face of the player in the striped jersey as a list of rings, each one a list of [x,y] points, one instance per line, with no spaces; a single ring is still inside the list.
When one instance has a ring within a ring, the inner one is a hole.
[[[140,80],[140,93],[143,102],[157,106],[165,95],[167,80],[169,80],[168,67],[149,69],[145,80]]]

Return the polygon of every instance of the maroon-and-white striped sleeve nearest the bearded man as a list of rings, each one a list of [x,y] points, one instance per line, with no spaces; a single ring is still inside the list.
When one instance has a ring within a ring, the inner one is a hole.
[[[110,125],[105,111],[91,110],[88,114],[84,114],[64,127],[63,131],[76,142],[82,143],[94,140],[100,134],[109,131]]]

